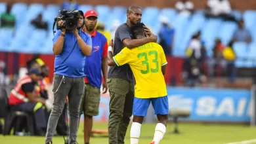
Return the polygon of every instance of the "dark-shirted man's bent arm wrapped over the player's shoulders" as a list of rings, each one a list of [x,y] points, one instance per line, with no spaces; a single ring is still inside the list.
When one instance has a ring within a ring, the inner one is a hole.
[[[120,40],[123,42],[123,45],[125,45],[127,48],[135,48],[145,45],[146,43],[158,41],[156,35],[151,35],[150,37],[146,37],[144,39],[132,39],[129,29],[119,29],[118,35]]]

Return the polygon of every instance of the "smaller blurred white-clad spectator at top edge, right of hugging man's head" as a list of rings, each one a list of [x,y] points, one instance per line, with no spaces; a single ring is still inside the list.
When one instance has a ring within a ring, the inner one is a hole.
[[[182,16],[190,16],[194,12],[194,4],[188,0],[177,1],[175,9]]]

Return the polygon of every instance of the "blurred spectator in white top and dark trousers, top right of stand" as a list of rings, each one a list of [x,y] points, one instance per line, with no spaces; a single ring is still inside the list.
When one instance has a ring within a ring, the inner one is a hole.
[[[228,0],[208,0],[205,16],[236,22],[236,18],[231,15],[231,12],[232,9]]]

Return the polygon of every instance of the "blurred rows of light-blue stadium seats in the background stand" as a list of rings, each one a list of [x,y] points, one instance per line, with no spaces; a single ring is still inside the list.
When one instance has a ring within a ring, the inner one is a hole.
[[[0,3],[0,13],[5,12],[7,9],[6,3]],[[108,5],[80,5],[80,10],[84,12],[89,9],[95,9],[98,12],[98,22],[105,24],[107,30],[110,30],[114,20],[125,22],[126,7],[115,6],[109,7]],[[52,37],[53,37],[53,21],[54,17],[58,15],[60,7],[58,5],[47,5],[44,7],[42,4],[33,3],[27,5],[25,3],[14,3],[11,13],[16,16],[16,31],[11,29],[0,29],[0,51],[2,52],[29,52],[52,54]],[[31,20],[38,14],[43,14],[43,20],[48,24],[48,31],[40,31],[30,24]],[[246,45],[245,43],[236,43],[235,50],[239,59],[244,56],[245,50],[254,50],[256,40],[256,31],[253,28],[256,23],[256,10],[233,10],[232,14],[237,18],[244,18],[245,27],[252,33],[253,43]],[[25,16],[25,18],[24,18]],[[179,16],[175,9],[164,8],[158,9],[157,7],[145,7],[143,9],[142,22],[149,26],[154,33],[158,34],[160,31],[161,23],[160,16],[166,16],[169,24],[175,29],[175,40],[173,46],[173,55],[178,57],[185,56],[185,50],[194,33],[202,31],[202,40],[205,42],[207,48],[207,56],[212,56],[212,48],[214,40],[219,37],[224,45],[232,39],[234,30],[238,27],[232,22],[224,22],[222,20],[207,20],[203,16],[202,10],[196,10],[190,18]],[[26,27],[26,29],[24,29]],[[30,31],[28,33],[28,31]],[[13,41],[10,41],[13,39]],[[32,40],[28,43],[28,40]],[[249,48],[248,48],[249,47]],[[254,52],[254,51],[252,51]],[[250,53],[252,58],[255,54]],[[238,60],[237,67],[249,67],[253,65],[249,60]]]

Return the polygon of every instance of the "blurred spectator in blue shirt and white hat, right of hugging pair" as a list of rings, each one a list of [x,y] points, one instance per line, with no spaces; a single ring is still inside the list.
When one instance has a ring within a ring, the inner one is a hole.
[[[174,39],[174,29],[169,26],[168,18],[165,16],[160,17],[160,22],[162,24],[159,37],[160,37],[160,45],[163,47],[163,51],[165,52],[165,56],[171,55],[171,50],[173,48],[173,39]]]

